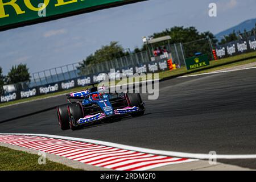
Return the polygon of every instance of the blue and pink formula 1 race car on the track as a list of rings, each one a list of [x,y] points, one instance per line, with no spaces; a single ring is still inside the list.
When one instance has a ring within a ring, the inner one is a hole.
[[[105,93],[105,88],[90,88],[67,94],[69,104],[57,106],[57,118],[62,130],[76,130],[88,123],[113,120],[131,115],[143,115],[140,94]]]

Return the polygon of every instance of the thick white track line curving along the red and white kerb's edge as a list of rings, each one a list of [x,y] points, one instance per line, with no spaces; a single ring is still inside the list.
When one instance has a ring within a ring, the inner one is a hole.
[[[124,144],[111,143],[111,142],[103,142],[103,141],[100,141],[100,140],[73,138],[73,137],[61,137],[61,136],[57,136],[57,135],[17,134],[17,133],[15,133],[15,134],[13,134],[13,133],[0,133],[0,135],[28,135],[28,136],[36,136],[36,137],[48,137],[48,138],[56,138],[56,139],[74,140],[74,141],[80,141],[80,142],[86,142],[86,143],[100,144],[100,145],[103,145],[103,146],[121,148],[121,149],[124,149],[124,150],[144,152],[144,153],[147,153],[147,154],[175,156],[175,157],[179,157],[179,158],[192,158],[192,159],[209,159],[209,158],[213,158],[213,156],[209,155],[209,154],[192,154],[192,153],[186,153],[186,152],[152,150],[152,149],[149,149],[149,148],[133,147],[133,146],[127,146],[127,145],[124,145]],[[216,158],[216,159],[256,159],[256,154],[216,155],[216,156],[214,156],[214,158]]]

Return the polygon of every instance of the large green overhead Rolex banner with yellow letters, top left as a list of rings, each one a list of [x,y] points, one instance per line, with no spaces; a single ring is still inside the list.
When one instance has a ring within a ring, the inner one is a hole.
[[[0,0],[0,31],[145,0]]]

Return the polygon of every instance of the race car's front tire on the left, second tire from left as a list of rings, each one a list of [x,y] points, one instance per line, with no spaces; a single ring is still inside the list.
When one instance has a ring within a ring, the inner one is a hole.
[[[76,103],[68,106],[68,118],[70,129],[79,129],[79,126],[75,126],[73,122],[78,121],[81,118],[84,118],[84,113],[81,104]]]

